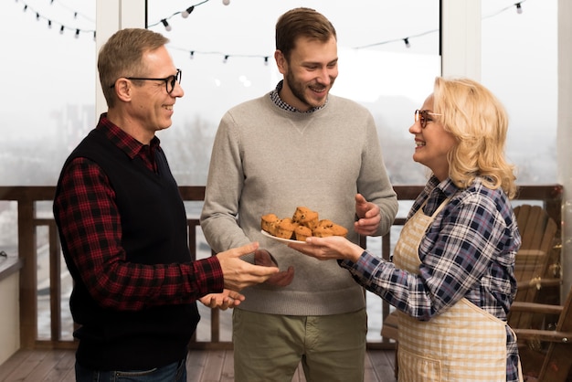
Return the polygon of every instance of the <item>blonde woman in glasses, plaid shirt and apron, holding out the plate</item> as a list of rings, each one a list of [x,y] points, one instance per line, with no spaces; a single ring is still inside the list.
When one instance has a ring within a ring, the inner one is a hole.
[[[415,111],[413,160],[429,167],[393,262],[343,238],[291,244],[340,260],[355,281],[399,312],[399,381],[522,380],[506,314],[516,293],[521,244],[510,198],[514,167],[504,158],[503,105],[468,79],[435,80]]]

